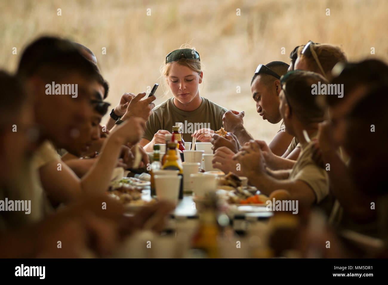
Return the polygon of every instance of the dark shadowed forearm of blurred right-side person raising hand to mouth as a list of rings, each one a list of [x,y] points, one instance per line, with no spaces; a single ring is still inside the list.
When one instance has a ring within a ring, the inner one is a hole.
[[[340,201],[344,211],[352,218],[359,221],[371,218],[370,199],[358,190],[348,172],[348,168],[336,152],[322,152],[322,159],[330,164],[330,171],[327,171],[330,180],[331,191]],[[349,203],[352,201],[352,203]]]

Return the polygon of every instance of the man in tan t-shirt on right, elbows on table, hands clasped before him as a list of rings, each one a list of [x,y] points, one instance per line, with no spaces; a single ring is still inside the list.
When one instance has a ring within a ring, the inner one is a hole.
[[[329,193],[326,170],[311,159],[310,138],[316,136],[318,123],[325,118],[324,110],[317,104],[318,95],[312,94],[312,85],[319,81],[327,84],[320,74],[310,71],[290,71],[282,78],[279,109],[286,131],[298,138],[302,149],[291,170],[266,168],[265,151],[255,141],[247,143],[235,155],[244,176],[262,193],[270,195],[274,190],[285,189],[292,200],[303,206],[318,204]]]

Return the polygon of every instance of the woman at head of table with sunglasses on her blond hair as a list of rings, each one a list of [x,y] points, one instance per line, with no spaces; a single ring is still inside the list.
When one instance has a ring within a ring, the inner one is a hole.
[[[184,124],[185,141],[190,142],[196,136],[198,141],[210,142],[214,130],[222,127],[222,116],[227,109],[199,95],[203,78],[199,53],[192,48],[170,52],[163,76],[173,97],[153,109],[140,145],[152,152],[155,143],[165,143],[165,135],[177,122]]]

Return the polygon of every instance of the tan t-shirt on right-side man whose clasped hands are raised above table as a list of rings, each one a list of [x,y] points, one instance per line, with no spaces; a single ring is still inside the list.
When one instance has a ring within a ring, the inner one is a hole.
[[[312,160],[312,143],[301,145],[299,154],[294,167],[291,169],[289,179],[301,180],[307,183],[315,193],[316,204],[322,201],[329,193],[329,178],[326,170],[320,168]]]

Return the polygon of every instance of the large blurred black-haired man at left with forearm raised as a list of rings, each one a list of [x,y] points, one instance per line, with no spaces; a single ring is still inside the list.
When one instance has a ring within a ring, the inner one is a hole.
[[[91,123],[94,104],[103,104],[97,92],[100,74],[71,42],[50,37],[39,38],[24,50],[18,74],[31,92],[35,121],[46,139],[34,154],[32,165],[51,204],[68,203],[85,193],[104,193],[121,146],[139,141],[144,120],[133,118],[111,133],[98,161],[79,179],[62,163],[55,148],[71,149],[83,125]],[[63,92],[66,87],[72,88],[71,94]],[[42,195],[42,190],[37,191]]]

